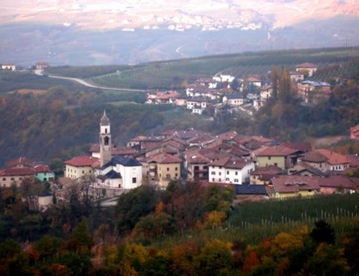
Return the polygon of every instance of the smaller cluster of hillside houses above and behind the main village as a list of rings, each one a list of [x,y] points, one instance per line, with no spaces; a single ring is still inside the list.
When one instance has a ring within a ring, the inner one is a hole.
[[[329,83],[311,81],[318,66],[313,63],[302,63],[290,72],[290,78],[298,91],[297,95],[304,103],[317,104],[322,99],[328,99],[331,93]],[[215,75],[212,78],[202,78],[186,87],[186,93],[177,91],[150,90],[146,103],[174,104],[184,106],[196,114],[202,114],[208,106],[219,108],[227,104],[233,108],[249,105],[258,110],[271,97],[273,88],[270,77],[260,75],[247,76],[244,79],[235,79],[231,75]],[[234,82],[235,91],[233,88]]]

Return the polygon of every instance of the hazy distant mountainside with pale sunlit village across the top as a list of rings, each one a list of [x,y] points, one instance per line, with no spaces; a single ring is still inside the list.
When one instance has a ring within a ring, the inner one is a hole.
[[[359,44],[356,0],[2,0],[0,22],[0,63],[24,66]]]

